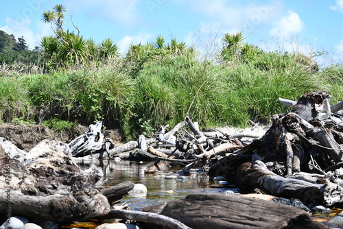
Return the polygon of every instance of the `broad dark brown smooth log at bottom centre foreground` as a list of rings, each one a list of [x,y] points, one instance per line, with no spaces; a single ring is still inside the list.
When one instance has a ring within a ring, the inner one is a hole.
[[[160,214],[197,229],[327,228],[312,221],[310,215],[299,208],[219,193],[198,193],[173,200]]]

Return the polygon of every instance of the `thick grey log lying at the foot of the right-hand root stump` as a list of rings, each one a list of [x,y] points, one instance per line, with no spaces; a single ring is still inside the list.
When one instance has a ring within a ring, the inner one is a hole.
[[[297,198],[304,204],[320,202],[332,206],[343,202],[343,187],[338,184],[314,184],[294,178],[283,178],[270,171],[263,162],[246,162],[237,171],[244,189],[261,189],[270,195]]]

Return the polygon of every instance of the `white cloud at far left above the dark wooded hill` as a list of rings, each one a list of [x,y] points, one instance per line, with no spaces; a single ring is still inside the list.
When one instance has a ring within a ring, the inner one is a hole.
[[[51,34],[49,25],[42,22],[36,24],[37,32],[33,32],[32,29],[29,29],[32,24],[29,18],[18,21],[8,17],[5,23],[6,25],[0,27],[0,30],[3,30],[6,34],[13,34],[16,38],[23,36],[27,45],[29,45],[29,49],[38,46],[38,41],[42,36]]]

